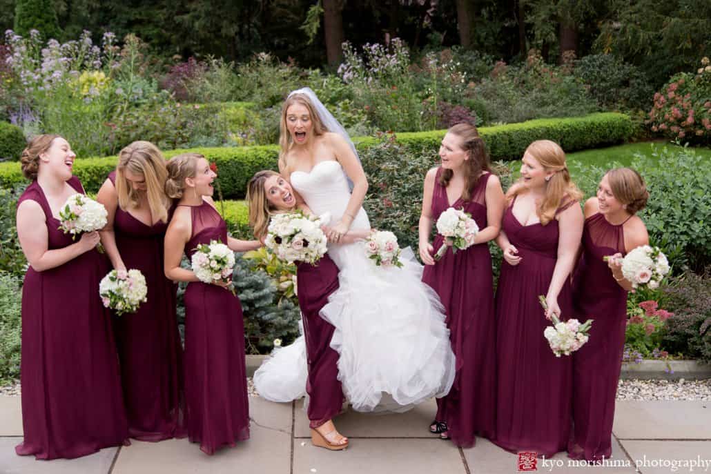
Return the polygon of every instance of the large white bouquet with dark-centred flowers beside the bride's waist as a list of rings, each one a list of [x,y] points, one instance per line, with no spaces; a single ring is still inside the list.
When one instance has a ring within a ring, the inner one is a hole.
[[[269,221],[264,245],[289,264],[296,261],[315,264],[326,254],[323,220],[324,217],[306,217],[300,211],[276,214]]]

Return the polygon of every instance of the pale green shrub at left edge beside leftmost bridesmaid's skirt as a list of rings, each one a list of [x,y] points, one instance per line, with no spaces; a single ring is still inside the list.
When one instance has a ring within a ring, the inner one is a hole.
[[[21,280],[0,271],[0,385],[20,377]]]

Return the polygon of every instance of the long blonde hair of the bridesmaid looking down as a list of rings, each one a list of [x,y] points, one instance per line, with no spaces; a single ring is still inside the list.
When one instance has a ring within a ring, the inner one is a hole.
[[[151,216],[168,222],[168,210],[171,200],[165,193],[168,170],[166,159],[157,146],[150,141],[134,141],[119,153],[116,166],[116,193],[119,196],[119,208],[127,210],[140,205],[141,194],[129,184],[125,171],[143,176],[146,183],[146,198]]]

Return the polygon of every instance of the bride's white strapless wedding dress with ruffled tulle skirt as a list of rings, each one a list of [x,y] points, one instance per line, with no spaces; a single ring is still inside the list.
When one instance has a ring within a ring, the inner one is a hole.
[[[345,212],[351,193],[338,161],[321,161],[310,173],[295,171],[292,187],[316,215],[333,222]],[[370,229],[360,208],[351,229]],[[429,397],[442,397],[454,381],[454,353],[444,308],[423,284],[422,265],[408,248],[402,268],[375,266],[363,242],[329,244],[340,270],[339,289],[321,317],[333,324],[331,347],[339,354],[338,379],[358,411],[405,411]],[[255,388],[274,402],[305,394],[306,347],[303,337],[275,351],[255,373]]]

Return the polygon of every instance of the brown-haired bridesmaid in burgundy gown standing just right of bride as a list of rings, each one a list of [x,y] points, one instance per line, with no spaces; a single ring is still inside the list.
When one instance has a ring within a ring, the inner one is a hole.
[[[449,394],[437,399],[437,415],[429,428],[456,446],[471,448],[475,433],[490,438],[496,427],[496,322],[486,242],[498,235],[506,201],[473,125],[451,127],[439,156],[442,166],[424,178],[419,255],[425,264],[422,281],[437,291],[447,309],[456,375]],[[456,254],[448,250],[435,263],[432,254],[445,243],[437,235],[434,246],[429,244],[432,222],[450,207],[469,212],[479,234],[468,249]]]

